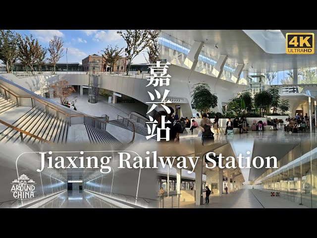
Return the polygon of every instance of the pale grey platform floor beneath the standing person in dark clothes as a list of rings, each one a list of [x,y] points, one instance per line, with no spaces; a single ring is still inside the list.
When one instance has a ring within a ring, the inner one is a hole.
[[[205,203],[205,193],[204,203]],[[222,197],[211,196],[208,205],[180,204],[181,208],[307,208],[281,197],[271,197],[267,190],[241,189]]]

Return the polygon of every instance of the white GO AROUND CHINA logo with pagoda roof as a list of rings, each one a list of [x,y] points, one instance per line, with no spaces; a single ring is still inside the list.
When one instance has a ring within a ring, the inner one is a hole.
[[[33,179],[29,179],[26,175],[21,175],[18,179],[11,182],[11,192],[13,197],[17,199],[30,199],[34,197],[35,184]]]

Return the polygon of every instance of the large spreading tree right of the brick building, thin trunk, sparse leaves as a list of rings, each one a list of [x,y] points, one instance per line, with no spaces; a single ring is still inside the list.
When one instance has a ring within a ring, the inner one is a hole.
[[[149,44],[147,30],[125,30],[125,32],[117,31],[117,33],[125,40],[127,47],[124,49],[127,57],[127,75],[129,75],[132,60],[138,56]]]

